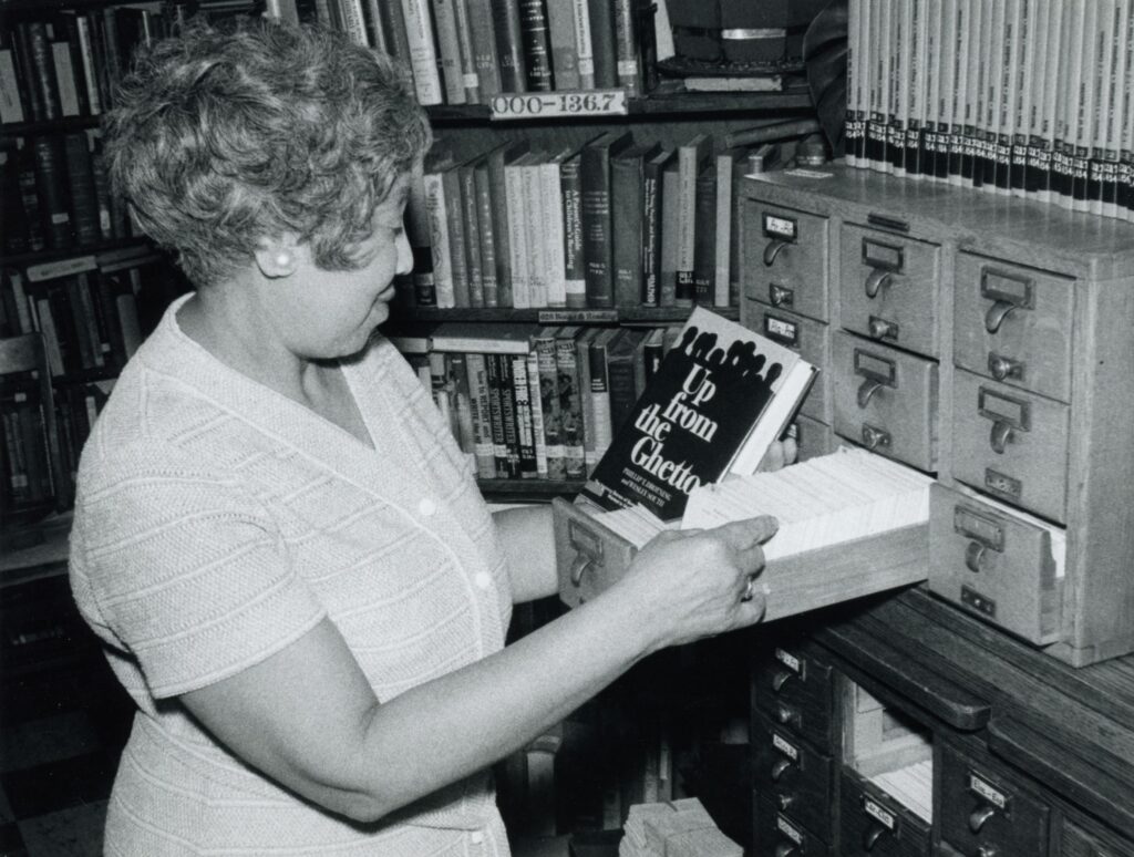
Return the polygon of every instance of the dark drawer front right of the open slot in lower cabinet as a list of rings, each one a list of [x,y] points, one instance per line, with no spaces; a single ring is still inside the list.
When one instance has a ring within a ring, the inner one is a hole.
[[[941,747],[941,839],[964,855],[1048,852],[1048,807],[1008,777]]]

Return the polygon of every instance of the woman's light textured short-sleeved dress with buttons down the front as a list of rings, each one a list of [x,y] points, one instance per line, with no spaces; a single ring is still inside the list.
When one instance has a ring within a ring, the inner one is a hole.
[[[361,825],[246,766],[180,705],[324,617],[388,701],[501,648],[511,609],[472,466],[387,340],[342,366],[371,449],[186,337],[185,299],[79,466],[71,588],[138,708],[105,854],[506,856],[488,772]]]

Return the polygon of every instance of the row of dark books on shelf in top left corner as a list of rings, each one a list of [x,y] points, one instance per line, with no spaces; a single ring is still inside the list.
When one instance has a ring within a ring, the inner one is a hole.
[[[166,2],[64,9],[0,28],[0,122],[99,116],[139,43],[174,32]]]

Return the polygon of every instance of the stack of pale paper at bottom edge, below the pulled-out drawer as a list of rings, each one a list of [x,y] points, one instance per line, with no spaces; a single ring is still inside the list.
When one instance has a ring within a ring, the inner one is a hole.
[[[619,857],[743,857],[696,798],[635,804],[623,825]]]

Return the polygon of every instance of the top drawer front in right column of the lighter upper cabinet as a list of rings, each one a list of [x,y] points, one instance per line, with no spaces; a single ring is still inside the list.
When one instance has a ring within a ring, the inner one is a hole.
[[[1075,281],[962,253],[954,286],[954,362],[1070,401]]]

